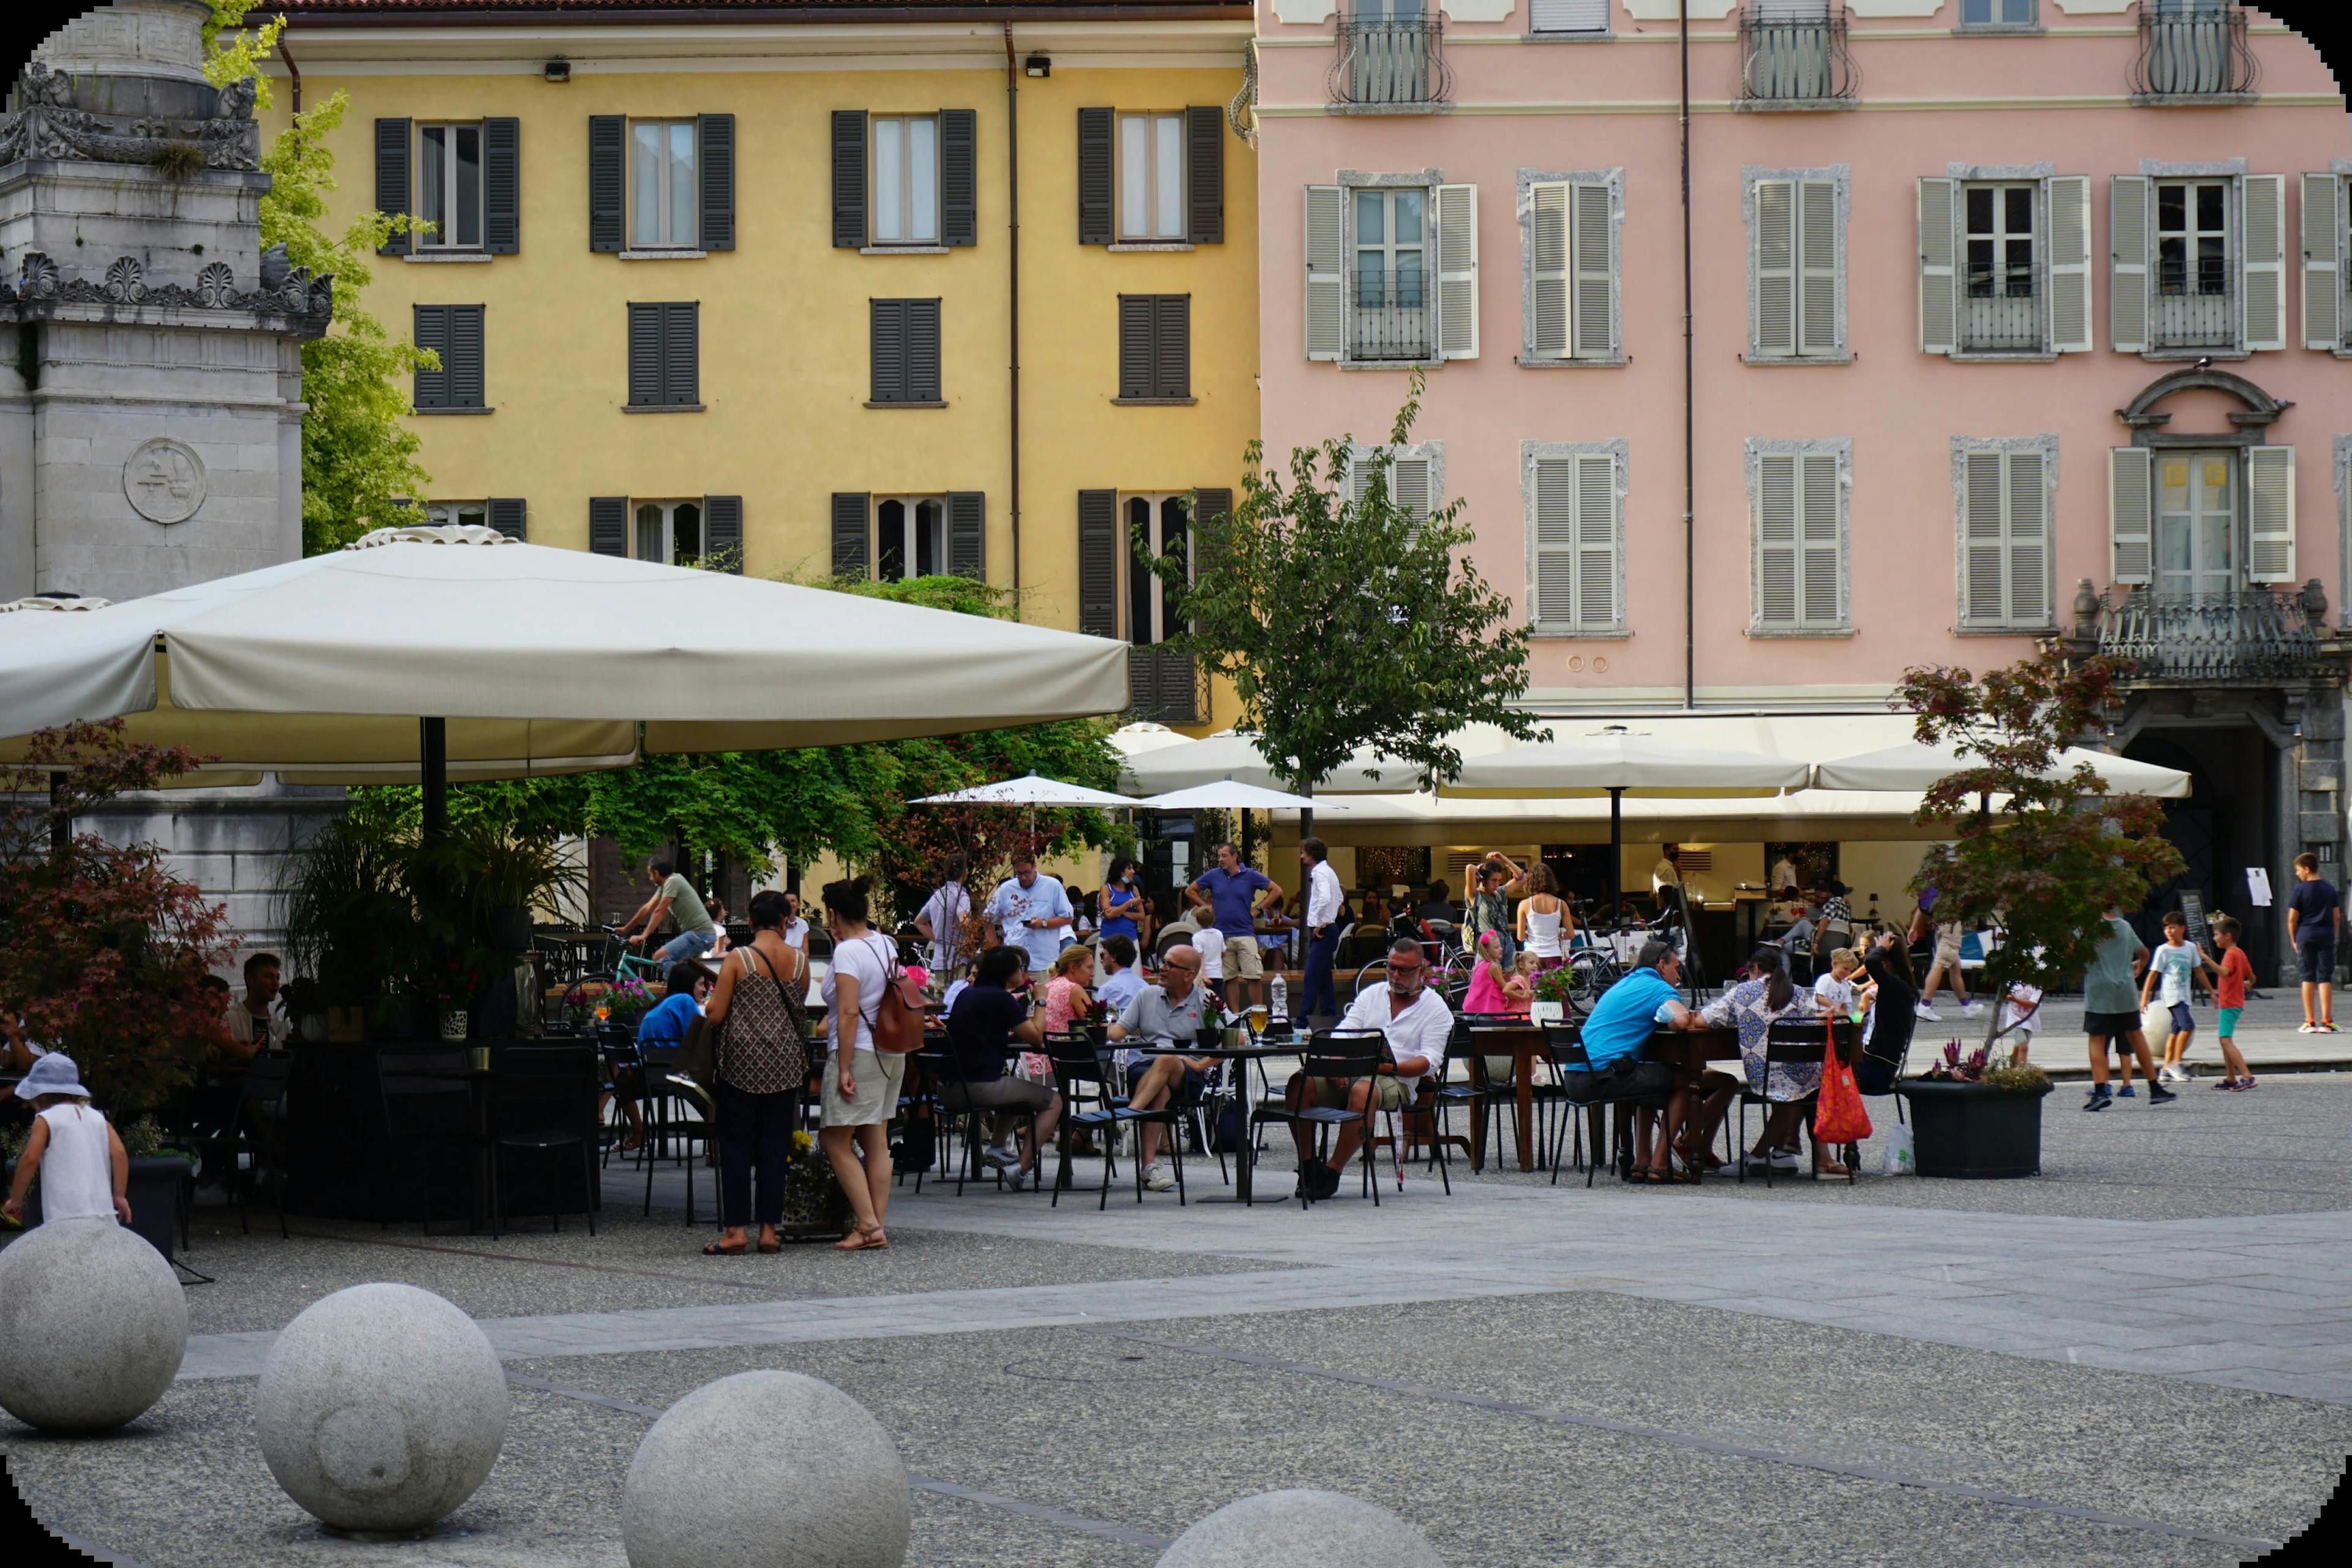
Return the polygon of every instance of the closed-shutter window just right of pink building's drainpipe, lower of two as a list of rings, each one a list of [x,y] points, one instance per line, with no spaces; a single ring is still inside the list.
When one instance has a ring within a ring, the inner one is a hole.
[[[1853,442],[1748,442],[1755,576],[1750,637],[1835,637],[1846,618]]]

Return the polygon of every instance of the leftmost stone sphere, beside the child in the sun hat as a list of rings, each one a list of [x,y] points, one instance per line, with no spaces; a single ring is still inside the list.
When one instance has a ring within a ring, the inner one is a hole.
[[[0,1408],[49,1432],[106,1432],[162,1399],[188,1354],[179,1274],[136,1229],[35,1225],[0,1251]]]

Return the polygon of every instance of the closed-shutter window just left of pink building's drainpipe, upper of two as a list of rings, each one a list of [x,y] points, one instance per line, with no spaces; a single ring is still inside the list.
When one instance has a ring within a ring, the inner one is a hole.
[[[1623,364],[1623,169],[1519,169],[1522,364]]]

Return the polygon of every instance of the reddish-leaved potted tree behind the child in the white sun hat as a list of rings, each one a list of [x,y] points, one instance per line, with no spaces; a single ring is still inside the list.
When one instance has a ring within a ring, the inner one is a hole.
[[[193,1166],[162,1147],[155,1114],[226,1044],[202,990],[228,959],[223,910],[155,844],[111,844],[73,823],[200,759],[134,745],[120,719],[38,731],[21,757],[0,771],[0,1011],[75,1060],[132,1154],[134,1225],[169,1258]]]

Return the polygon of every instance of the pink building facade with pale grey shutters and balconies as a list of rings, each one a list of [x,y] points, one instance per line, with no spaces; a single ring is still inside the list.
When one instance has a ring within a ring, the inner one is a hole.
[[[1258,2],[1263,430],[1378,437],[1423,367],[1395,482],[1468,503],[1538,708],[1879,708],[2070,637],[2145,658],[2110,743],[2197,771],[2209,900],[2338,856],[2352,129],[2310,40],[1691,0],[1686,386],[1675,0],[1435,5]]]

